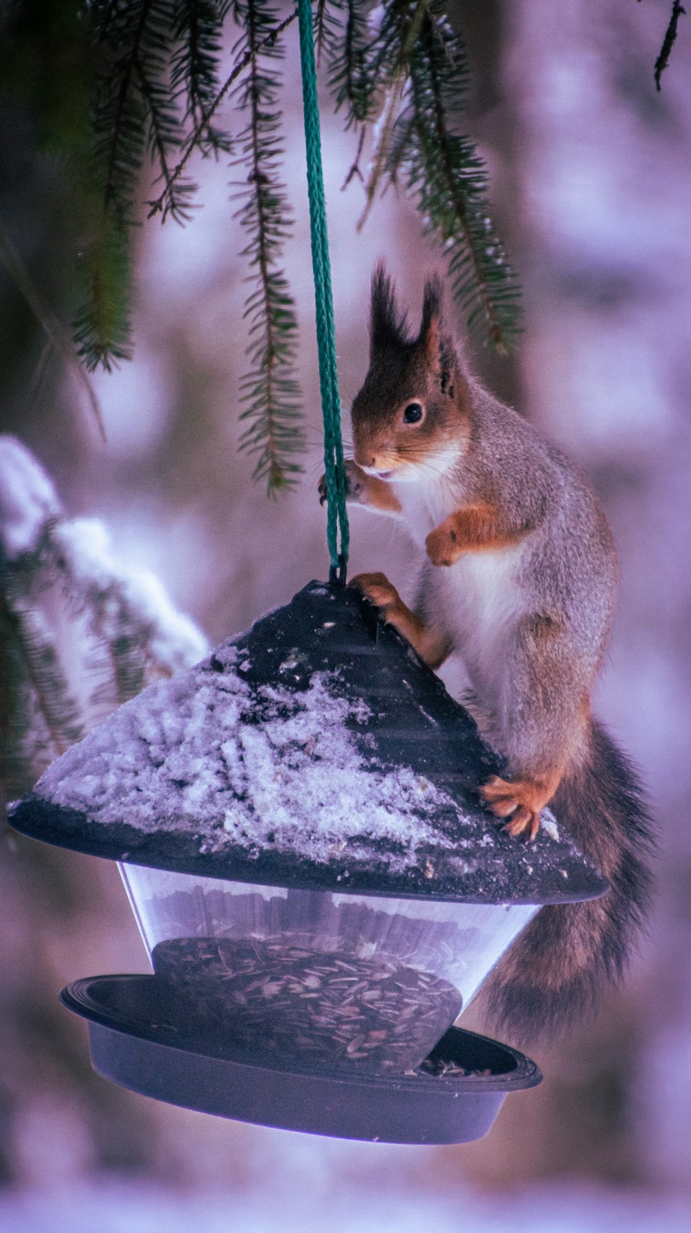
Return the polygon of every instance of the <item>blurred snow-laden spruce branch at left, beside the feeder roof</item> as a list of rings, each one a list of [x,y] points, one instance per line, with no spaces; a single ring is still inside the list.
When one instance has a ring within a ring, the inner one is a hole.
[[[65,520],[28,450],[0,436],[0,794],[207,642],[156,580],[118,568],[105,528]]]

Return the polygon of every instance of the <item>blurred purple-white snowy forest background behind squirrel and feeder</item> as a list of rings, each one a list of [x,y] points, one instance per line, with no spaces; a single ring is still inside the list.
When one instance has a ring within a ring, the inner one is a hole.
[[[117,870],[1,836],[0,1227],[159,1233],[203,1226],[397,1233],[424,1229],[676,1231],[691,1217],[691,17],[657,94],[668,0],[453,0],[474,70],[468,129],[490,169],[500,231],[525,290],[517,355],[479,354],[490,386],[592,477],[622,562],[620,610],[596,699],[643,768],[661,826],[650,936],[626,985],[575,1037],[532,1054],[544,1083],[510,1099],[490,1136],[387,1148],[245,1127],[105,1084],[86,1032],[57,1002],[69,980],[144,972]],[[244,370],[240,247],[228,169],[201,164],[203,208],[184,231],[139,232],[137,350],[97,380],[102,444],[16,289],[0,284],[0,432],[53,477],[70,518],[97,517],[124,571],[152,571],[211,641],[286,602],[328,557],[297,31],[289,38],[286,265],[298,300],[310,455],[270,502],[238,456]],[[55,170],[2,121],[0,213],[43,296],[65,290]],[[366,369],[368,282],[384,255],[415,321],[435,253],[389,194],[362,234],[352,142],[324,109],[344,404]],[[31,393],[30,393],[31,391]],[[404,538],[356,512],[351,571],[405,593]],[[478,1025],[473,1009],[469,1026]]]

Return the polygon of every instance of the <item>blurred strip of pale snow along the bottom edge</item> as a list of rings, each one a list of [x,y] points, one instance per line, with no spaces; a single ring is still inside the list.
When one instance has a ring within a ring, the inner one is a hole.
[[[405,1184],[358,1189],[351,1182],[323,1192],[302,1170],[294,1178],[282,1174],[281,1182],[267,1178],[260,1192],[190,1192],[117,1181],[5,1191],[0,1227],[4,1233],[321,1233],[325,1227],[330,1233],[610,1233],[616,1227],[627,1233],[686,1233],[690,1218],[682,1198],[634,1189],[572,1184],[480,1194],[466,1186],[440,1192]]]

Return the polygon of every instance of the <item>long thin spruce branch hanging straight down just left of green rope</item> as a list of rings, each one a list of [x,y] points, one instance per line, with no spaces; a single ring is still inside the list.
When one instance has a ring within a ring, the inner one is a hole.
[[[241,201],[235,217],[249,233],[241,255],[249,259],[250,293],[244,317],[249,321],[250,370],[243,377],[240,420],[246,425],[240,449],[256,457],[254,477],[266,480],[275,494],[294,485],[302,466],[299,387],[294,376],[297,319],[294,303],[277,261],[292,228],[286,192],[278,179],[282,158],[281,113],[276,110],[280,75],[276,62],[283,48],[266,36],[276,26],[272,0],[241,0],[235,6],[244,25],[239,46],[250,53],[249,72],[235,97],[249,116],[238,138],[246,180],[238,185]],[[265,65],[262,60],[269,63]]]

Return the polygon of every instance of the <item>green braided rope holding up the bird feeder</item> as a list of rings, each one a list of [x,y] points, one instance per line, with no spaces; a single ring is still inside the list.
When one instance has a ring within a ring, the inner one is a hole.
[[[324,470],[326,473],[326,543],[331,557],[331,577],[345,582],[350,533],[346,513],[346,473],[341,438],[341,399],[336,367],[336,334],[331,265],[326,238],[326,202],[321,171],[321,141],[319,136],[319,104],[317,100],[317,64],[312,30],[312,0],[298,0],[299,48],[302,64],[302,97],[304,107],[304,139],[307,145],[307,186],[309,194],[309,229],[312,237],[312,269],[317,305],[317,345],[319,349],[319,383],[324,417]],[[340,550],[339,550],[340,526]]]

